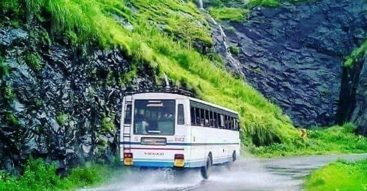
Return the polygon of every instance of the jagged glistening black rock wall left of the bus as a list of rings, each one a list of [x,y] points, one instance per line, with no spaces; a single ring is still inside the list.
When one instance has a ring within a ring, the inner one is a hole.
[[[0,56],[9,71],[0,78],[0,169],[17,168],[31,154],[59,161],[61,170],[90,159],[112,162],[129,60],[117,49],[83,53],[51,43],[44,32],[39,26],[0,28]],[[33,53],[40,70],[30,64]],[[129,86],[152,85],[146,69],[138,70]]]

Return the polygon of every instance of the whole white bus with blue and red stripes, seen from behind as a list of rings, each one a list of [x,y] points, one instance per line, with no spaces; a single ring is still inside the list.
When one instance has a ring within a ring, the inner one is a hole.
[[[177,92],[131,93],[123,98],[121,161],[127,166],[201,168],[240,156],[236,111]]]

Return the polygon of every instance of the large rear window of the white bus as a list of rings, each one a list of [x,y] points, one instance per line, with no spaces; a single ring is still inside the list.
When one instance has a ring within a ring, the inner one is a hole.
[[[174,135],[175,100],[135,100],[134,134]]]

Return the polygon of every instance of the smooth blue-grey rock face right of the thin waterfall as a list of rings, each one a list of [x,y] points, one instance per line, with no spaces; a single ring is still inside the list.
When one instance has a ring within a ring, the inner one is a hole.
[[[284,3],[224,25],[247,81],[296,126],[326,126],[336,122],[343,57],[367,36],[366,9],[364,0]]]

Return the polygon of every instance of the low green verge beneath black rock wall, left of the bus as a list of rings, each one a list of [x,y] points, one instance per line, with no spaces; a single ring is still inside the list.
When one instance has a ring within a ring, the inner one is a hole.
[[[121,170],[119,173],[121,173]],[[70,171],[68,177],[56,174],[56,165],[45,163],[41,159],[30,159],[22,176],[14,177],[0,172],[0,190],[2,191],[54,191],[75,190],[76,188],[103,183],[116,176],[115,168],[91,165]]]

